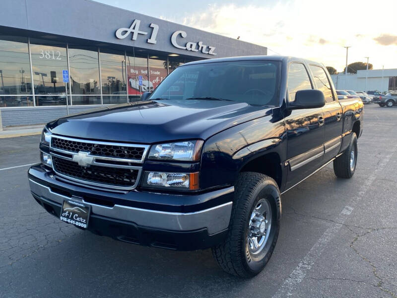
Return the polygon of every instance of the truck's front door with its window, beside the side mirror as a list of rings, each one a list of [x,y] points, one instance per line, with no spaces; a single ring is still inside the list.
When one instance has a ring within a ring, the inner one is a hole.
[[[287,100],[294,101],[298,90],[313,89],[303,63],[288,67]],[[322,108],[291,110],[285,116],[287,129],[288,176],[290,188],[322,165],[324,155],[324,113]]]

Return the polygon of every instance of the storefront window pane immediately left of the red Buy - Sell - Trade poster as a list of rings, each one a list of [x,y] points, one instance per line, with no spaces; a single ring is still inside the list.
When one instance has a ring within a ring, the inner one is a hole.
[[[124,52],[100,49],[103,103],[127,102],[126,61]],[[111,96],[105,96],[109,94]]]

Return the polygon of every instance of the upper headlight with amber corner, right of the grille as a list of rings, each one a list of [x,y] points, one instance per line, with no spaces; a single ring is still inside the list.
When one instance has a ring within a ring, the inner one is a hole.
[[[203,141],[186,141],[153,145],[149,159],[195,161],[200,159]]]

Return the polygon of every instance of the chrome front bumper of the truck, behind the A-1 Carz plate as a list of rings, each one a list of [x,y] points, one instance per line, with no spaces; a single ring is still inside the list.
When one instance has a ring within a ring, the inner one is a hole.
[[[69,199],[67,196],[54,193],[49,187],[32,179],[29,179],[29,184],[34,194],[49,201],[62,204],[65,199]],[[233,202],[227,202],[197,212],[180,213],[141,209],[117,204],[113,207],[106,207],[87,203],[84,200],[83,202],[91,205],[92,214],[129,221],[142,226],[177,231],[195,230],[206,227],[209,234],[220,232],[228,227],[233,205]]]

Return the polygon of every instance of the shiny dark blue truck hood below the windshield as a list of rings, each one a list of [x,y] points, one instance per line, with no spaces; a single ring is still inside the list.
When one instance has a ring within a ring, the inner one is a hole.
[[[152,144],[207,139],[272,108],[216,100],[159,100],[103,107],[47,124],[52,133],[94,140]]]

